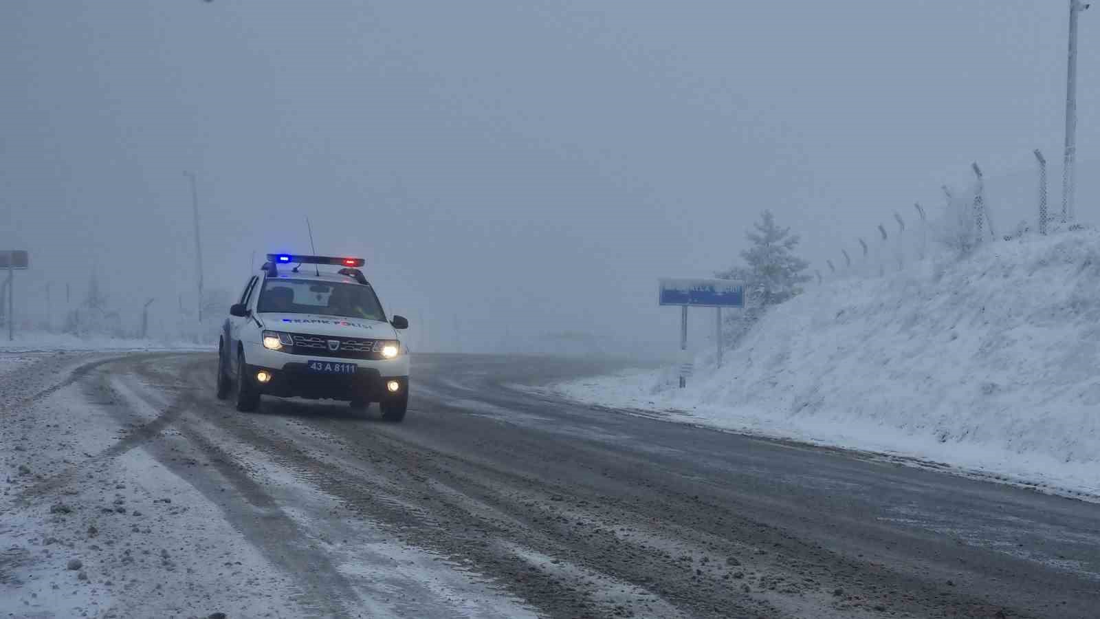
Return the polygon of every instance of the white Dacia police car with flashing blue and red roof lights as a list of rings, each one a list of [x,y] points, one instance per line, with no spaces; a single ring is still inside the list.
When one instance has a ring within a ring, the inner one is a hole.
[[[218,398],[253,411],[263,394],[378,402],[405,419],[408,350],[360,270],[361,258],[270,253],[229,310],[218,344]],[[339,267],[334,272],[321,265]]]

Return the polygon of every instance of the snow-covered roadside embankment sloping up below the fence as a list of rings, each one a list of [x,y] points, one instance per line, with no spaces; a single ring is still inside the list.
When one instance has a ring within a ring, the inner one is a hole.
[[[552,392],[1100,496],[1100,232],[989,243],[770,312],[725,356]]]

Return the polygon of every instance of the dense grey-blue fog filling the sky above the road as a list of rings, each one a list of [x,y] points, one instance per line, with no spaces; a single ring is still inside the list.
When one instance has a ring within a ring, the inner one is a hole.
[[[308,251],[309,217],[319,253],[366,258],[421,350],[576,332],[664,355],[679,312],[657,278],[732,265],[763,208],[825,271],[971,161],[994,180],[1035,148],[1058,162],[1065,4],[6,0],[0,249],[31,252],[24,317],[48,282],[59,325],[95,272],[128,329],[156,298],[168,333],[197,305],[191,172],[208,291]]]

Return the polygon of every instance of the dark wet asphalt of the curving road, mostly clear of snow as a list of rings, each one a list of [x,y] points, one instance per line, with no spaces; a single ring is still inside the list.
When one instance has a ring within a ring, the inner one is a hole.
[[[610,361],[416,356],[402,424],[331,402],[238,413],[213,398],[215,363],[131,355],[74,380],[158,391],[162,414],[127,441],[217,498],[319,615],[353,607],[352,586],[323,549],[285,543],[301,534],[280,515],[293,499],[227,442],[334,497],[341,521],[375,523],[548,617],[1100,617],[1100,506],[520,387]],[[216,466],[187,466],[182,448]],[[410,617],[454,616],[409,604]]]

